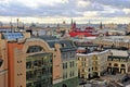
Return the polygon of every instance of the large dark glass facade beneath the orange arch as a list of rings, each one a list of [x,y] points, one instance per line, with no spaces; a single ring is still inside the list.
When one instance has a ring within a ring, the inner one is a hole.
[[[26,87],[52,87],[52,53],[27,57]]]

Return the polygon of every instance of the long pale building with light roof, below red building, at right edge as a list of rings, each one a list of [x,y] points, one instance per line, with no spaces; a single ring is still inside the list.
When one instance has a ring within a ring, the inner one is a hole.
[[[109,36],[106,38],[98,37],[95,40],[93,40],[93,44],[96,44],[99,46],[130,48],[130,37],[129,36]]]

